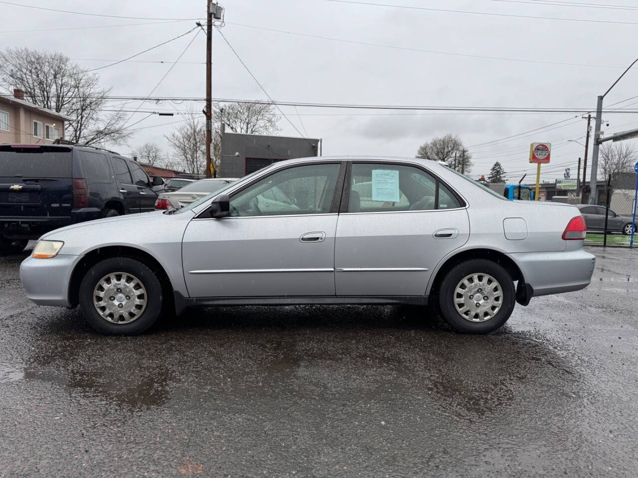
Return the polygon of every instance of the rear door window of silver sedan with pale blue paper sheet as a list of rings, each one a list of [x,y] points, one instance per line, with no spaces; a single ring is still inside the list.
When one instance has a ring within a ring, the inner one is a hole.
[[[403,164],[352,164],[348,212],[457,207],[460,207],[459,201],[450,189],[419,168]]]

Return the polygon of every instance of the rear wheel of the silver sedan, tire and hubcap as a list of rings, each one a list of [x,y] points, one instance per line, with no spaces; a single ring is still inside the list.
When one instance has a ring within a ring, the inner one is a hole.
[[[443,277],[438,305],[443,319],[462,333],[488,333],[512,315],[514,281],[499,264],[472,259],[454,266]]]

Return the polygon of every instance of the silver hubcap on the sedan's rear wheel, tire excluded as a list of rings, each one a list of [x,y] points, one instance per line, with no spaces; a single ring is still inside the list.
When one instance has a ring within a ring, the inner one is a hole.
[[[491,275],[470,274],[459,282],[454,291],[454,307],[466,321],[489,321],[502,303],[501,284]]]

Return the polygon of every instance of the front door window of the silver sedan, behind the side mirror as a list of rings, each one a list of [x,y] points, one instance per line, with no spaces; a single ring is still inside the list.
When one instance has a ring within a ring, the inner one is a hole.
[[[309,164],[277,171],[230,199],[230,216],[330,212],[339,163]]]

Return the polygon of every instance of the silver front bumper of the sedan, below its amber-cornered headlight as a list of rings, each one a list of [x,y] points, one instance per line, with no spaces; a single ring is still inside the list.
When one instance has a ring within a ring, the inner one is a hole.
[[[34,259],[29,256],[20,264],[20,280],[27,297],[38,305],[71,307],[69,283],[71,273],[81,256],[56,256]]]

